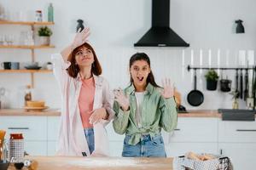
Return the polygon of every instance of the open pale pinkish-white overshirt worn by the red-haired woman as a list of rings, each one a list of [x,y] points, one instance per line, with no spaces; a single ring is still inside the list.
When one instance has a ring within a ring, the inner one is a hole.
[[[71,65],[61,54],[53,54],[54,75],[61,88],[61,127],[57,143],[58,156],[82,156],[90,150],[84,136],[84,128],[79,111],[79,94],[82,86],[81,78],[70,77],[66,69]],[[96,84],[93,110],[104,107],[108,111],[108,119],[113,118],[113,97],[110,95],[108,82],[103,77],[93,75]],[[108,156],[108,134],[105,126],[109,122],[102,120],[95,123],[95,150],[92,155]]]

